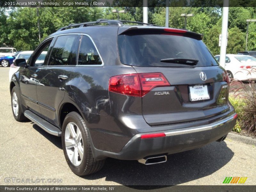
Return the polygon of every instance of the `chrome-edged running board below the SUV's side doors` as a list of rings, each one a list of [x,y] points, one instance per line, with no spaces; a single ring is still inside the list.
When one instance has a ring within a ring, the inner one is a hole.
[[[41,127],[44,131],[58,136],[61,136],[61,131],[58,127],[50,124],[48,121],[45,121],[43,118],[39,117],[38,115],[36,115],[35,113],[26,110],[24,112],[25,117],[27,117],[29,120],[31,120],[32,122],[34,122],[35,124],[37,124],[39,127]]]

